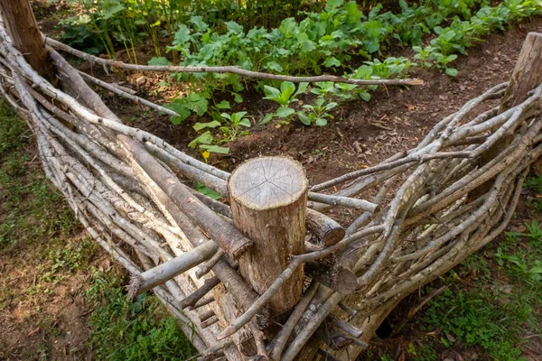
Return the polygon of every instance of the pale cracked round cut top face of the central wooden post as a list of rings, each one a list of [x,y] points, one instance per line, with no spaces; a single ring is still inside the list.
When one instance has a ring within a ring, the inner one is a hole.
[[[280,208],[304,195],[307,180],[298,162],[260,157],[243,163],[229,179],[230,197],[255,210]]]

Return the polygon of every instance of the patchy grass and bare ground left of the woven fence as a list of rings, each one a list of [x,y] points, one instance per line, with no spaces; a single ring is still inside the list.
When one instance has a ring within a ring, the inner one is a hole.
[[[0,101],[0,327],[22,335],[0,337],[0,359],[182,360],[194,355],[154,296],[126,301],[125,271],[86,236],[35,154],[32,133]],[[73,315],[64,310],[77,299],[91,310],[86,322],[80,322],[81,310]],[[81,334],[78,344],[70,344],[72,333]],[[58,347],[62,342],[63,349]]]

